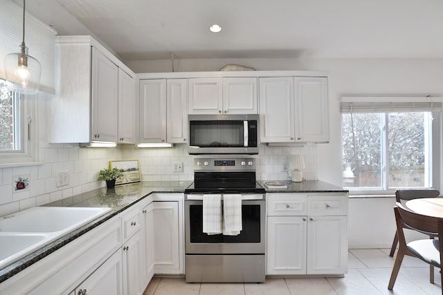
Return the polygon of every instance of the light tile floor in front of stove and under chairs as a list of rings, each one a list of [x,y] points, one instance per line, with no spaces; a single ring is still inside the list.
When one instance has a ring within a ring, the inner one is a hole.
[[[429,266],[406,256],[393,291],[388,282],[394,258],[390,249],[351,249],[344,278],[266,278],[256,283],[186,283],[184,278],[153,278],[143,295],[332,295],[332,294],[442,294],[440,269],[429,283]]]

